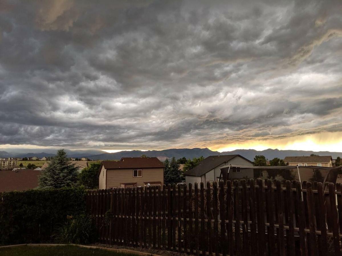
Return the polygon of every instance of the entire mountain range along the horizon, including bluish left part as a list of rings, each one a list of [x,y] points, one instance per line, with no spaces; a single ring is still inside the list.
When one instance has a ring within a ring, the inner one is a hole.
[[[14,153],[7,151],[0,151],[0,157],[48,157],[54,156],[54,152],[49,150],[47,152],[35,153],[34,150],[26,150],[26,153]],[[208,157],[214,155],[241,155],[249,160],[253,160],[256,155],[264,155],[267,159],[271,160],[275,157],[284,159],[286,156],[310,156],[310,154],[318,154],[320,156],[332,156],[332,158],[342,157],[342,152],[329,152],[329,151],[303,151],[303,150],[277,150],[277,149],[267,149],[262,151],[257,150],[234,150],[226,152],[211,151],[209,148],[171,148],[167,150],[132,150],[132,151],[120,151],[116,153],[106,153],[101,150],[66,150],[69,157],[87,157],[94,160],[118,160],[121,157],[140,157],[141,155],[146,155],[148,157],[158,157],[160,160],[165,160],[166,158],[175,157],[176,159],[186,157]]]

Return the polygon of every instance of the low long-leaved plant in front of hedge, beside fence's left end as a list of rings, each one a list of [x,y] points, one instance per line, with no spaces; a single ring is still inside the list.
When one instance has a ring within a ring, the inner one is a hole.
[[[88,215],[67,216],[67,221],[59,225],[53,236],[57,243],[88,244],[94,241],[95,227]]]

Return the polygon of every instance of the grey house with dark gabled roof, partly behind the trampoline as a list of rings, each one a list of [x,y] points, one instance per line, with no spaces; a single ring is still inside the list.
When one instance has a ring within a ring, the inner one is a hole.
[[[219,181],[221,174],[221,166],[225,165],[244,165],[253,166],[253,162],[240,155],[220,155],[220,156],[208,156],[202,160],[198,166],[185,172],[186,184],[192,183],[195,185],[197,182],[204,183],[206,187],[207,182],[212,183]],[[242,178],[253,178],[253,169],[240,169],[231,168],[229,170],[229,179],[242,179]]]

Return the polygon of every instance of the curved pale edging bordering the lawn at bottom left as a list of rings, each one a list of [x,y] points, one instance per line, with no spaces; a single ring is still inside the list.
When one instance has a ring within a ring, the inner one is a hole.
[[[101,246],[89,246],[89,245],[82,245],[82,244],[14,244],[14,245],[5,245],[0,246],[0,249],[2,248],[11,248],[11,247],[19,247],[19,246],[29,246],[29,247],[39,247],[39,246],[65,246],[65,245],[73,245],[83,248],[89,248],[89,249],[100,249],[100,250],[107,250],[117,253],[128,253],[128,254],[135,254],[135,255],[141,255],[141,256],[160,256],[159,254],[152,254],[152,253],[145,253],[140,251],[134,251],[129,249],[116,249],[116,248],[107,248],[107,247],[101,247]]]

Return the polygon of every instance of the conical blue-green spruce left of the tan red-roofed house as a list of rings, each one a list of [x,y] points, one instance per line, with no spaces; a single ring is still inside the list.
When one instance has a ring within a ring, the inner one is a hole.
[[[39,177],[40,188],[71,187],[77,182],[77,169],[70,165],[64,149],[58,150],[50,165]]]

